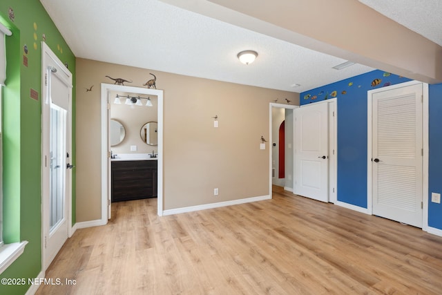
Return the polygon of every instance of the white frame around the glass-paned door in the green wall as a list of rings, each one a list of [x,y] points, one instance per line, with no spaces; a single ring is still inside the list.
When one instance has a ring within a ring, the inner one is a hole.
[[[46,184],[48,183],[48,175],[46,175],[46,169],[48,166],[48,163],[50,162],[49,160],[49,155],[48,155],[48,146],[46,146],[45,142],[48,141],[49,138],[49,134],[48,134],[48,127],[49,126],[49,122],[48,122],[48,116],[50,116],[50,114],[48,114],[48,108],[50,108],[48,105],[50,104],[50,102],[48,101],[49,99],[49,90],[48,90],[48,86],[50,86],[48,84],[48,75],[50,75],[48,73],[48,66],[50,66],[50,64],[55,64],[57,66],[57,70],[61,70],[65,75],[66,75],[66,85],[70,86],[70,99],[69,99],[69,108],[72,111],[72,88],[73,88],[73,84],[72,84],[72,73],[70,73],[70,71],[68,70],[68,68],[66,68],[66,66],[64,66],[64,64],[59,60],[59,58],[52,52],[52,50],[50,50],[50,48],[46,45],[46,43],[44,43],[43,41],[41,42],[41,267],[43,269],[43,272],[46,271],[46,268],[49,265],[46,265],[45,263],[45,258],[47,256],[46,254],[46,247],[45,247],[45,242],[46,242],[46,238],[45,236],[48,236],[49,233],[46,233],[46,215],[48,214],[48,212],[45,211],[45,193],[47,193],[48,191],[48,187],[46,187]],[[68,110],[67,110],[68,111]],[[70,153],[70,159],[72,160],[72,113],[68,113],[67,114],[67,122],[66,122],[66,130],[68,132],[68,135],[70,135],[70,137],[66,138],[66,142],[68,143],[68,146],[66,146],[66,151],[68,153]],[[71,164],[73,164],[71,162]],[[65,167],[63,167],[63,169],[65,169]],[[72,170],[71,169],[67,169],[66,170],[66,196],[65,196],[65,200],[66,200],[66,204],[65,204],[65,211],[66,211],[66,222],[67,222],[67,227],[68,227],[68,238],[70,238],[73,235],[73,232],[75,231],[73,229],[73,225],[72,225]]]

